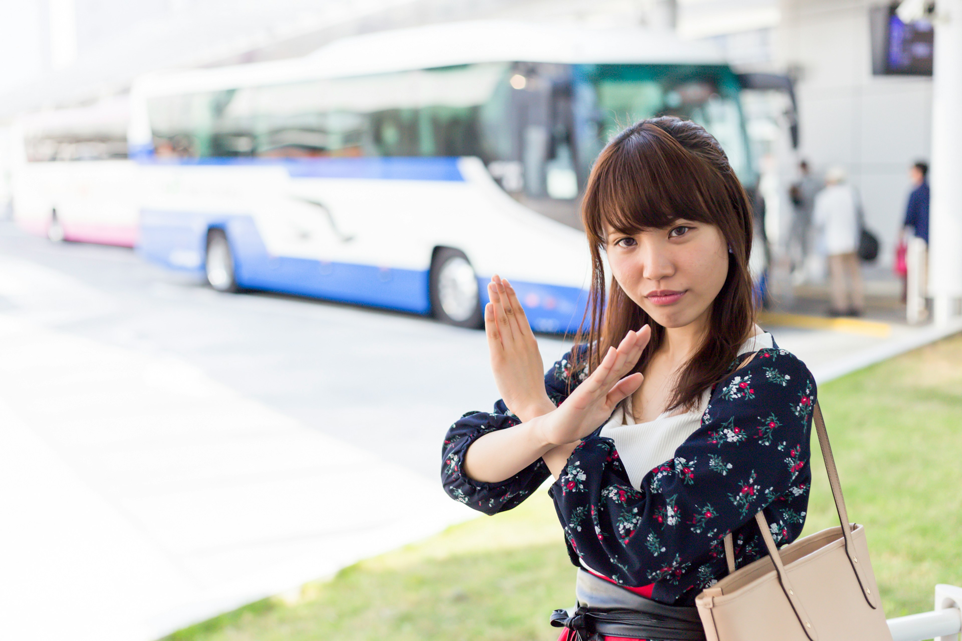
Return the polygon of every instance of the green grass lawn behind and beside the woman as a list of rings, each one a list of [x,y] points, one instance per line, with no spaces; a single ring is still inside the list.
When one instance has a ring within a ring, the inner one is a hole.
[[[889,618],[962,585],[962,336],[823,386],[849,518],[866,525]],[[814,445],[814,441],[813,441]],[[816,451],[818,448],[813,448]],[[805,534],[838,523],[821,457]],[[574,569],[544,492],[519,508],[186,628],[168,641],[520,641],[573,601]]]

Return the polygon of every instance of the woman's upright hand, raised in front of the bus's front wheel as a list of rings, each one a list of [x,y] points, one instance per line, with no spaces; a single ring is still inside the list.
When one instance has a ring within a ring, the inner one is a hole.
[[[496,274],[488,284],[491,302],[484,324],[494,382],[504,404],[524,423],[554,410],[544,391],[544,363],[515,289]]]

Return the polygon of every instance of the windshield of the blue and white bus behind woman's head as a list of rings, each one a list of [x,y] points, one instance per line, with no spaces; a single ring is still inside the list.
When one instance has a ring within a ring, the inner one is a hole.
[[[605,143],[632,122],[677,115],[695,120],[711,132],[742,182],[753,182],[739,103],[740,87],[726,67],[578,64],[572,71],[580,175],[588,175]]]

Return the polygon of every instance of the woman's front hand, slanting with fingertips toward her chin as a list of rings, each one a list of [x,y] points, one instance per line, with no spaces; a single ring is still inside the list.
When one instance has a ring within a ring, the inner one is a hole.
[[[631,372],[651,339],[651,328],[629,331],[616,349],[610,347],[595,372],[571,392],[570,397],[537,422],[545,443],[564,445],[583,439],[604,423],[615,407],[634,394],[644,376]],[[623,378],[622,378],[623,376]]]

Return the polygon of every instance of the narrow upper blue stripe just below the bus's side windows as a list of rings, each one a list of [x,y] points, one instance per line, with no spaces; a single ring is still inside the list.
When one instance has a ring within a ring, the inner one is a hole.
[[[382,158],[158,158],[140,150],[144,165],[282,166],[292,178],[367,178],[368,180],[439,180],[464,182],[458,159],[450,157]]]

